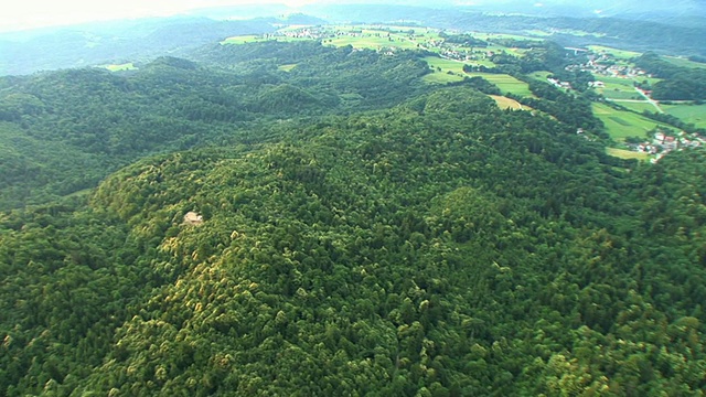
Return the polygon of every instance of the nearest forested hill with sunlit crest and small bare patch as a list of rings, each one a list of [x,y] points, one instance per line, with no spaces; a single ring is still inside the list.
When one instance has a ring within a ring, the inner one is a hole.
[[[1,219],[2,390],[698,393],[706,158],[611,161],[467,87],[140,161]]]

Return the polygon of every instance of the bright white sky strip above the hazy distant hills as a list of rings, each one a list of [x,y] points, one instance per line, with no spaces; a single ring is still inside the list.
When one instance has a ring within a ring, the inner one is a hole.
[[[298,7],[309,0],[274,0]],[[232,4],[263,3],[257,0],[17,0],[2,7],[0,31],[67,25],[140,17],[167,17],[188,10]]]

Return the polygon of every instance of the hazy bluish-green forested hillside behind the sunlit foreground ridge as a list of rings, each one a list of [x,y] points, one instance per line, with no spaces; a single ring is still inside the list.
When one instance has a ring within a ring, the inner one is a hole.
[[[415,54],[314,42],[216,44],[200,54],[203,64],[160,57],[122,73],[0,78],[0,210],[94,187],[143,155],[254,143],[285,121],[385,108],[429,88]],[[279,68],[287,64],[297,66]]]

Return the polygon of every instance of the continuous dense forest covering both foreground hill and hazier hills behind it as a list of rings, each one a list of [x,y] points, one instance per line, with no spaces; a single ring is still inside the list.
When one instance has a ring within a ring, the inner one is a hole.
[[[706,390],[703,150],[426,54],[203,51],[0,81],[0,394]]]

